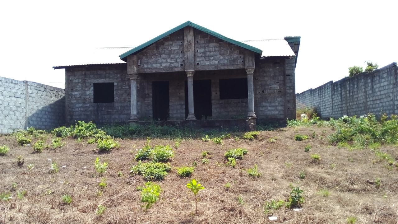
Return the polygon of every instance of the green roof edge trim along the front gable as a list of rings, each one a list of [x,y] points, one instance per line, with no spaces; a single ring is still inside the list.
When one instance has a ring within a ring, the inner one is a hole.
[[[127,51],[126,53],[123,53],[123,54],[119,55],[119,57],[120,57],[121,60],[127,61],[127,58],[126,58],[127,56],[129,56],[129,55],[131,55],[131,54],[134,54],[134,53],[136,53],[137,51],[140,51],[140,50],[142,50],[142,49],[148,47],[148,46],[151,45],[152,43],[155,43],[156,41],[162,39],[163,37],[166,37],[166,36],[168,36],[168,35],[170,35],[170,34],[176,32],[176,31],[178,31],[178,30],[180,30],[180,29],[182,29],[182,28],[184,28],[184,27],[186,27],[186,26],[191,26],[191,27],[193,27],[193,28],[195,28],[195,29],[199,29],[199,30],[201,30],[201,31],[203,31],[203,32],[205,32],[205,33],[208,33],[208,34],[210,34],[210,35],[213,35],[213,36],[215,36],[215,37],[217,37],[217,38],[220,38],[220,39],[222,39],[222,40],[224,40],[224,41],[227,41],[227,42],[229,42],[229,43],[233,43],[234,45],[238,45],[239,47],[243,47],[244,49],[248,49],[248,50],[250,50],[250,51],[254,51],[255,53],[259,53],[260,55],[261,55],[261,53],[262,53],[262,51],[261,51],[260,49],[256,48],[256,47],[252,47],[252,46],[250,46],[250,45],[247,45],[246,43],[242,43],[242,42],[240,42],[240,41],[236,41],[236,40],[230,39],[230,38],[228,38],[228,37],[224,37],[224,36],[221,35],[220,33],[216,33],[215,31],[212,31],[212,30],[210,30],[210,29],[204,28],[203,26],[199,26],[199,25],[197,25],[197,24],[194,24],[194,23],[191,22],[191,21],[187,21],[187,22],[185,22],[185,23],[183,23],[183,24],[181,24],[181,25],[179,25],[179,26],[177,26],[177,27],[175,27],[175,28],[173,28],[173,29],[170,29],[170,30],[167,31],[166,33],[163,33],[163,34],[161,34],[161,35],[159,35],[159,36],[157,36],[157,37],[151,39],[150,41],[147,41],[147,42],[145,42],[145,43],[143,43],[143,44],[141,44],[141,45],[139,45],[139,46],[137,46],[137,47],[135,47],[135,48],[133,48],[133,49]]]

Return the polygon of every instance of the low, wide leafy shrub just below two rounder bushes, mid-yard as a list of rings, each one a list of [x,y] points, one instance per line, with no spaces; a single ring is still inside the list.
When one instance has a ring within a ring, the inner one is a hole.
[[[168,163],[142,163],[138,161],[137,165],[130,168],[130,173],[142,175],[147,180],[163,180],[171,169],[172,167]]]

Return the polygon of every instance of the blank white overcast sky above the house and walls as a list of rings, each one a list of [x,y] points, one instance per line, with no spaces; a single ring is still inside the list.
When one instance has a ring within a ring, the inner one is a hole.
[[[64,69],[53,66],[84,63],[99,47],[140,45],[187,20],[239,41],[301,36],[296,92],[368,60],[398,61],[397,1],[328,2],[1,1],[0,76],[63,88]]]

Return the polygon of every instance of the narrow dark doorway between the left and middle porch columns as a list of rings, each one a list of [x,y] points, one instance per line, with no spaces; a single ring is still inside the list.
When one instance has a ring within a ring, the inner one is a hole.
[[[152,82],[153,120],[169,120],[169,82]]]

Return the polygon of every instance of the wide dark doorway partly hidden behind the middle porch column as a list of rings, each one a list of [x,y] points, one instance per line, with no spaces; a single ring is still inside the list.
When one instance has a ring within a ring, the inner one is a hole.
[[[193,81],[193,111],[198,120],[211,117],[211,80]],[[185,81],[185,118],[188,116],[188,83]]]

